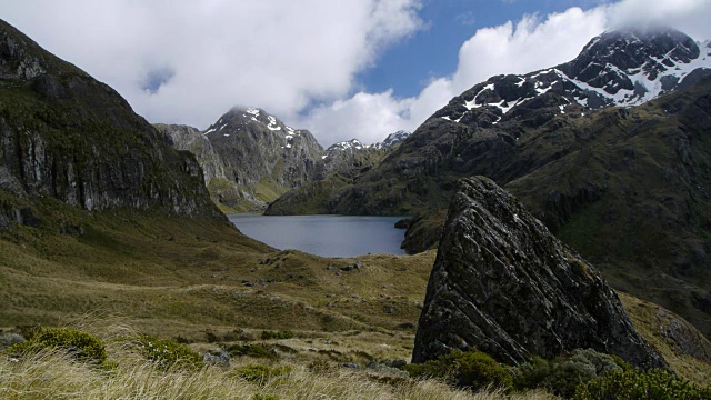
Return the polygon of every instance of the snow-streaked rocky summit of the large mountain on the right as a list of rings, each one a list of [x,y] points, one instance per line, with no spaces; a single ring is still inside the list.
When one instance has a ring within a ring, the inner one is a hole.
[[[435,116],[467,123],[479,113],[475,109],[490,107],[497,123],[509,111],[549,92],[567,100],[559,104],[561,113],[571,104],[633,107],[688,87],[707,73],[711,73],[709,41],[699,43],[671,29],[605,32],[570,62],[522,76],[492,77]]]

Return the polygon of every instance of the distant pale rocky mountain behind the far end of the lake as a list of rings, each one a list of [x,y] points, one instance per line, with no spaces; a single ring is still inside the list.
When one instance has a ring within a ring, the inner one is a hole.
[[[179,124],[156,128],[176,149],[196,156],[212,200],[226,212],[263,211],[289,190],[334,176],[352,179],[410,134],[391,133],[375,144],[352,139],[323,150],[308,130],[257,108],[234,108],[204,132]]]

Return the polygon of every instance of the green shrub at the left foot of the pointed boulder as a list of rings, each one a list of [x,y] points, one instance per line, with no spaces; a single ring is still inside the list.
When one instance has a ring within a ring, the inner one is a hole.
[[[443,378],[459,387],[478,390],[487,386],[510,389],[513,379],[491,356],[480,351],[452,351],[437,360],[408,364],[403,369],[413,378]]]

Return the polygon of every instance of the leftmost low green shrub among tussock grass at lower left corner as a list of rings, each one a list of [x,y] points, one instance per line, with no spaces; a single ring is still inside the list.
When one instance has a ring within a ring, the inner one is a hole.
[[[31,339],[11,346],[6,350],[9,354],[22,356],[38,353],[41,350],[61,349],[72,359],[102,363],[107,359],[106,347],[96,337],[66,328],[48,328],[34,332]]]

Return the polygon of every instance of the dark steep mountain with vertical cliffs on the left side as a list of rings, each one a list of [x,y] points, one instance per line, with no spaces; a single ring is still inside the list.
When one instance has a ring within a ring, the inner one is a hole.
[[[116,91],[0,21],[0,216],[19,224],[50,198],[89,211],[160,209],[223,220],[188,152]]]

